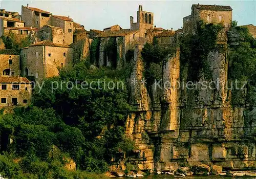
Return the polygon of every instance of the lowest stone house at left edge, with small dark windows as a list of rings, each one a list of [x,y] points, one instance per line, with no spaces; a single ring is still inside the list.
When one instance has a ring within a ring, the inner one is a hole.
[[[0,108],[31,104],[32,84],[24,77],[0,76]]]

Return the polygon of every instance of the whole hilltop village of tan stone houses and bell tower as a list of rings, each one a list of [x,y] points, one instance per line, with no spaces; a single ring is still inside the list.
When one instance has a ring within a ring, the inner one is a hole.
[[[3,41],[1,42],[0,107],[30,104],[32,86],[26,77],[41,81],[58,76],[58,68],[71,68],[74,62],[89,55],[93,38],[98,38],[100,43],[95,65],[120,69],[125,63],[126,53],[134,53],[137,44],[152,42],[154,37],[164,46],[175,44],[180,34],[195,33],[199,20],[229,28],[232,22],[232,8],[193,5],[191,14],[183,18],[183,28],[176,31],[173,28],[165,30],[154,26],[154,13],[144,11],[142,6],[139,6],[137,11],[136,23],[134,17],[130,17],[130,29],[114,25],[103,31],[87,31],[69,16],[53,15],[29,5],[22,6],[21,15],[1,9],[0,36],[14,34],[17,40],[30,37],[31,44],[17,53],[6,49]],[[247,27],[255,37],[255,26]],[[106,46],[112,37],[117,44],[116,59],[108,59],[106,55]]]

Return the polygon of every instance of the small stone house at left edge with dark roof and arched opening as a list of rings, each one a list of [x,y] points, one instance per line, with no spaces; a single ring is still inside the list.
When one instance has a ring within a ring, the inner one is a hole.
[[[19,54],[14,50],[0,50],[0,76],[18,76]]]

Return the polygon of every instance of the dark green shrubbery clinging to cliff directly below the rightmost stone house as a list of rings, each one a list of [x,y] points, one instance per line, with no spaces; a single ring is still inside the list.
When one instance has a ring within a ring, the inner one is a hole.
[[[188,65],[188,81],[198,81],[200,73],[206,79],[211,78],[208,53],[217,48],[217,35],[223,29],[221,25],[198,23],[196,34],[187,34],[180,39],[181,64]]]

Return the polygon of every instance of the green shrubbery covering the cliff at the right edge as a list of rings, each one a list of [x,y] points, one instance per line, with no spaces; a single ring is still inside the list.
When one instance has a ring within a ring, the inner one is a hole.
[[[232,81],[246,81],[246,96],[241,90],[232,90],[232,103],[256,103],[256,40],[245,27],[233,27],[231,31],[239,33],[244,39],[236,46],[230,46],[228,78]],[[239,83],[242,87],[243,83]],[[246,97],[246,101],[244,98]]]

